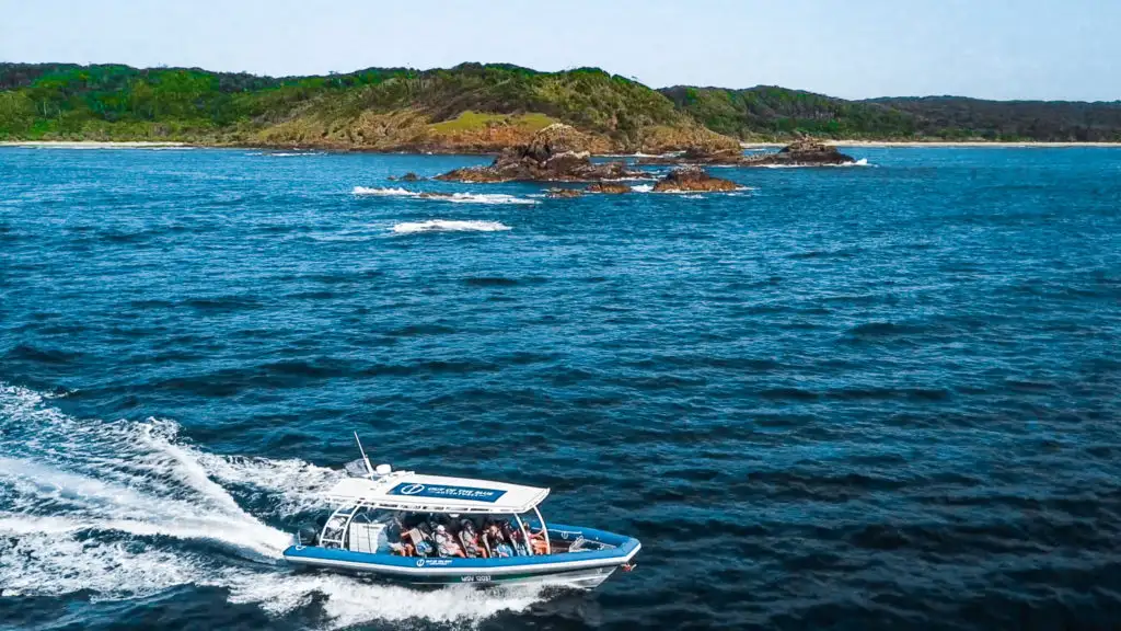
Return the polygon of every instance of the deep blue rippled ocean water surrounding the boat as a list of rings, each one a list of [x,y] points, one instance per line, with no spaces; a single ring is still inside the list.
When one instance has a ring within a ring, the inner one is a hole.
[[[388,180],[478,157],[0,149],[0,628],[1118,627],[1121,150],[853,153],[552,200]],[[353,430],[638,568],[294,573]]]

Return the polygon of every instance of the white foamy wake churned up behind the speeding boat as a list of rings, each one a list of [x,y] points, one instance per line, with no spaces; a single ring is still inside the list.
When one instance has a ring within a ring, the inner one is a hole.
[[[420,593],[342,575],[293,574],[280,561],[291,537],[263,520],[321,506],[318,495],[342,472],[209,454],[178,439],[172,421],[76,419],[50,399],[0,384],[4,597],[113,601],[195,585],[223,588],[231,603],[276,616],[307,609],[330,628],[374,620],[479,622],[541,600],[530,587]],[[239,497],[260,504],[257,515]]]

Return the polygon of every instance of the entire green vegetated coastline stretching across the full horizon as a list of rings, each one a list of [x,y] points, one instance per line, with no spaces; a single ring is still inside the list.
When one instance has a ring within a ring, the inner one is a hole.
[[[726,147],[730,140],[719,134],[782,139],[796,131],[865,139],[1121,140],[1121,102],[845,101],[769,86],[655,91],[597,68],[541,73],[508,64],[290,77],[0,64],[0,139],[492,150],[554,121],[614,150]]]

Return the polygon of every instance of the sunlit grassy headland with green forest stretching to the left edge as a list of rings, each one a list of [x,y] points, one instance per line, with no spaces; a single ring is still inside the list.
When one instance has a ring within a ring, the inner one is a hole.
[[[572,124],[602,150],[729,143],[649,88],[596,68],[462,64],[257,77],[196,68],[0,64],[0,138],[178,139],[488,150]]]

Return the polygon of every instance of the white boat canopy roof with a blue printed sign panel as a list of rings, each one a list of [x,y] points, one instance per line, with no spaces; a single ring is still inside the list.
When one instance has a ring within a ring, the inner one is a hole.
[[[328,501],[421,513],[518,514],[545,501],[548,488],[393,472],[382,476],[349,477],[326,493]]]

